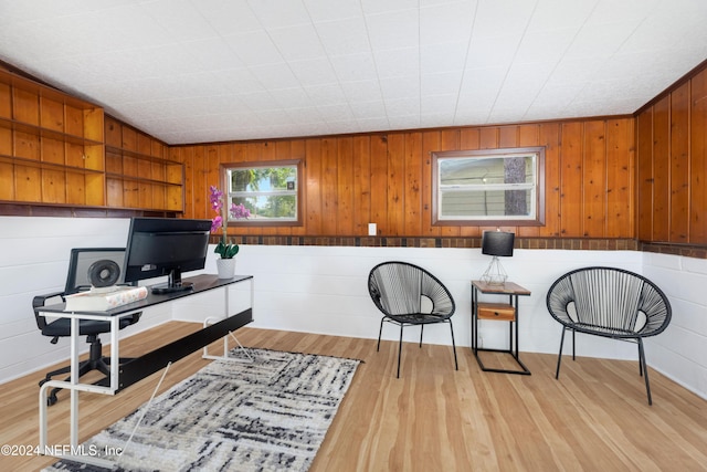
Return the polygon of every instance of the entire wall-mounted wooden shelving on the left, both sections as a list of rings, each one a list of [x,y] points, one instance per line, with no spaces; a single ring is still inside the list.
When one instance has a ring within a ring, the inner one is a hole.
[[[166,145],[102,107],[0,70],[0,202],[183,212]]]

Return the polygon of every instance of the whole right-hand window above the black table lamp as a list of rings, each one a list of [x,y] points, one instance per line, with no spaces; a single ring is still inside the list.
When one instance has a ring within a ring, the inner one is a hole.
[[[433,223],[542,224],[545,148],[433,153]]]

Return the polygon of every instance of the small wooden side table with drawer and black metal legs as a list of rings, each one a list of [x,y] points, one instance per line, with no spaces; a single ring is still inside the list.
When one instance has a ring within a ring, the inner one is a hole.
[[[479,302],[479,294],[508,295],[508,303]],[[487,373],[504,373],[530,375],[530,370],[518,357],[518,296],[528,296],[530,291],[520,285],[506,282],[504,284],[489,284],[483,281],[472,281],[472,349],[482,370]],[[478,321],[493,319],[508,322],[508,349],[490,349],[478,347]],[[515,329],[514,329],[515,328]],[[515,336],[514,336],[515,331]],[[520,370],[494,369],[484,366],[479,352],[495,352],[510,354]]]

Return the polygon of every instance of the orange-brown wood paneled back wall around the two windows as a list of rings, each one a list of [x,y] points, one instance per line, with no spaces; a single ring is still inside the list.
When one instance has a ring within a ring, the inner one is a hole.
[[[633,117],[460,127],[299,139],[172,146],[184,164],[187,218],[212,218],[208,188],[219,165],[303,159],[302,227],[239,228],[238,234],[479,237],[485,227],[431,224],[435,150],[546,147],[542,227],[506,228],[521,238],[634,239]],[[235,231],[234,231],[235,233]]]

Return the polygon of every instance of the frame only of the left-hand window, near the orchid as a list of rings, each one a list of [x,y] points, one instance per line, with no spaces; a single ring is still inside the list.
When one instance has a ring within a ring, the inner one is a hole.
[[[231,192],[230,170],[233,169],[268,169],[274,167],[295,167],[297,169],[297,183],[295,190],[296,198],[296,211],[297,218],[294,220],[260,220],[260,219],[232,219],[229,214],[226,224],[228,227],[300,227],[304,221],[304,164],[302,159],[285,159],[285,160],[267,160],[267,161],[247,161],[247,162],[225,162],[220,166],[221,181],[223,185],[223,193],[225,201],[231,201],[233,192]]]

